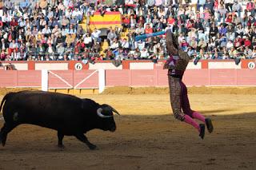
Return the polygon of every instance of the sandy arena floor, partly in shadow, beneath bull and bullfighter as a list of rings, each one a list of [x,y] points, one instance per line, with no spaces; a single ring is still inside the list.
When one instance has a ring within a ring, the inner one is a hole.
[[[61,150],[57,132],[20,125],[0,146],[0,169],[256,169],[256,95],[224,92],[190,93],[192,108],[214,123],[204,140],[190,125],[174,120],[167,94],[83,96],[122,114],[115,116],[116,132],[87,133],[98,150],[72,136],[64,138]]]

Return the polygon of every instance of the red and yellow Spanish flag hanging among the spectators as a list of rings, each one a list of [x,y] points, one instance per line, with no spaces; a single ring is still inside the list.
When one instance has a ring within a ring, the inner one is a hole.
[[[95,28],[113,28],[115,26],[122,27],[122,17],[120,12],[106,12],[103,16],[99,12],[95,12],[94,16],[90,16],[90,31]]]

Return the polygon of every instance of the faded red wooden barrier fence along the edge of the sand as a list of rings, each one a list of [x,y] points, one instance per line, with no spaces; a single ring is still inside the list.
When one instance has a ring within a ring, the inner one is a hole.
[[[95,70],[50,71],[49,88],[98,88],[98,72],[94,73],[94,71]],[[54,76],[53,73],[58,76]],[[106,86],[167,86],[168,81],[166,74],[166,69],[106,70]],[[256,69],[188,69],[184,74],[183,81],[186,85],[254,86],[256,85]],[[0,87],[40,86],[41,71],[0,70]]]

